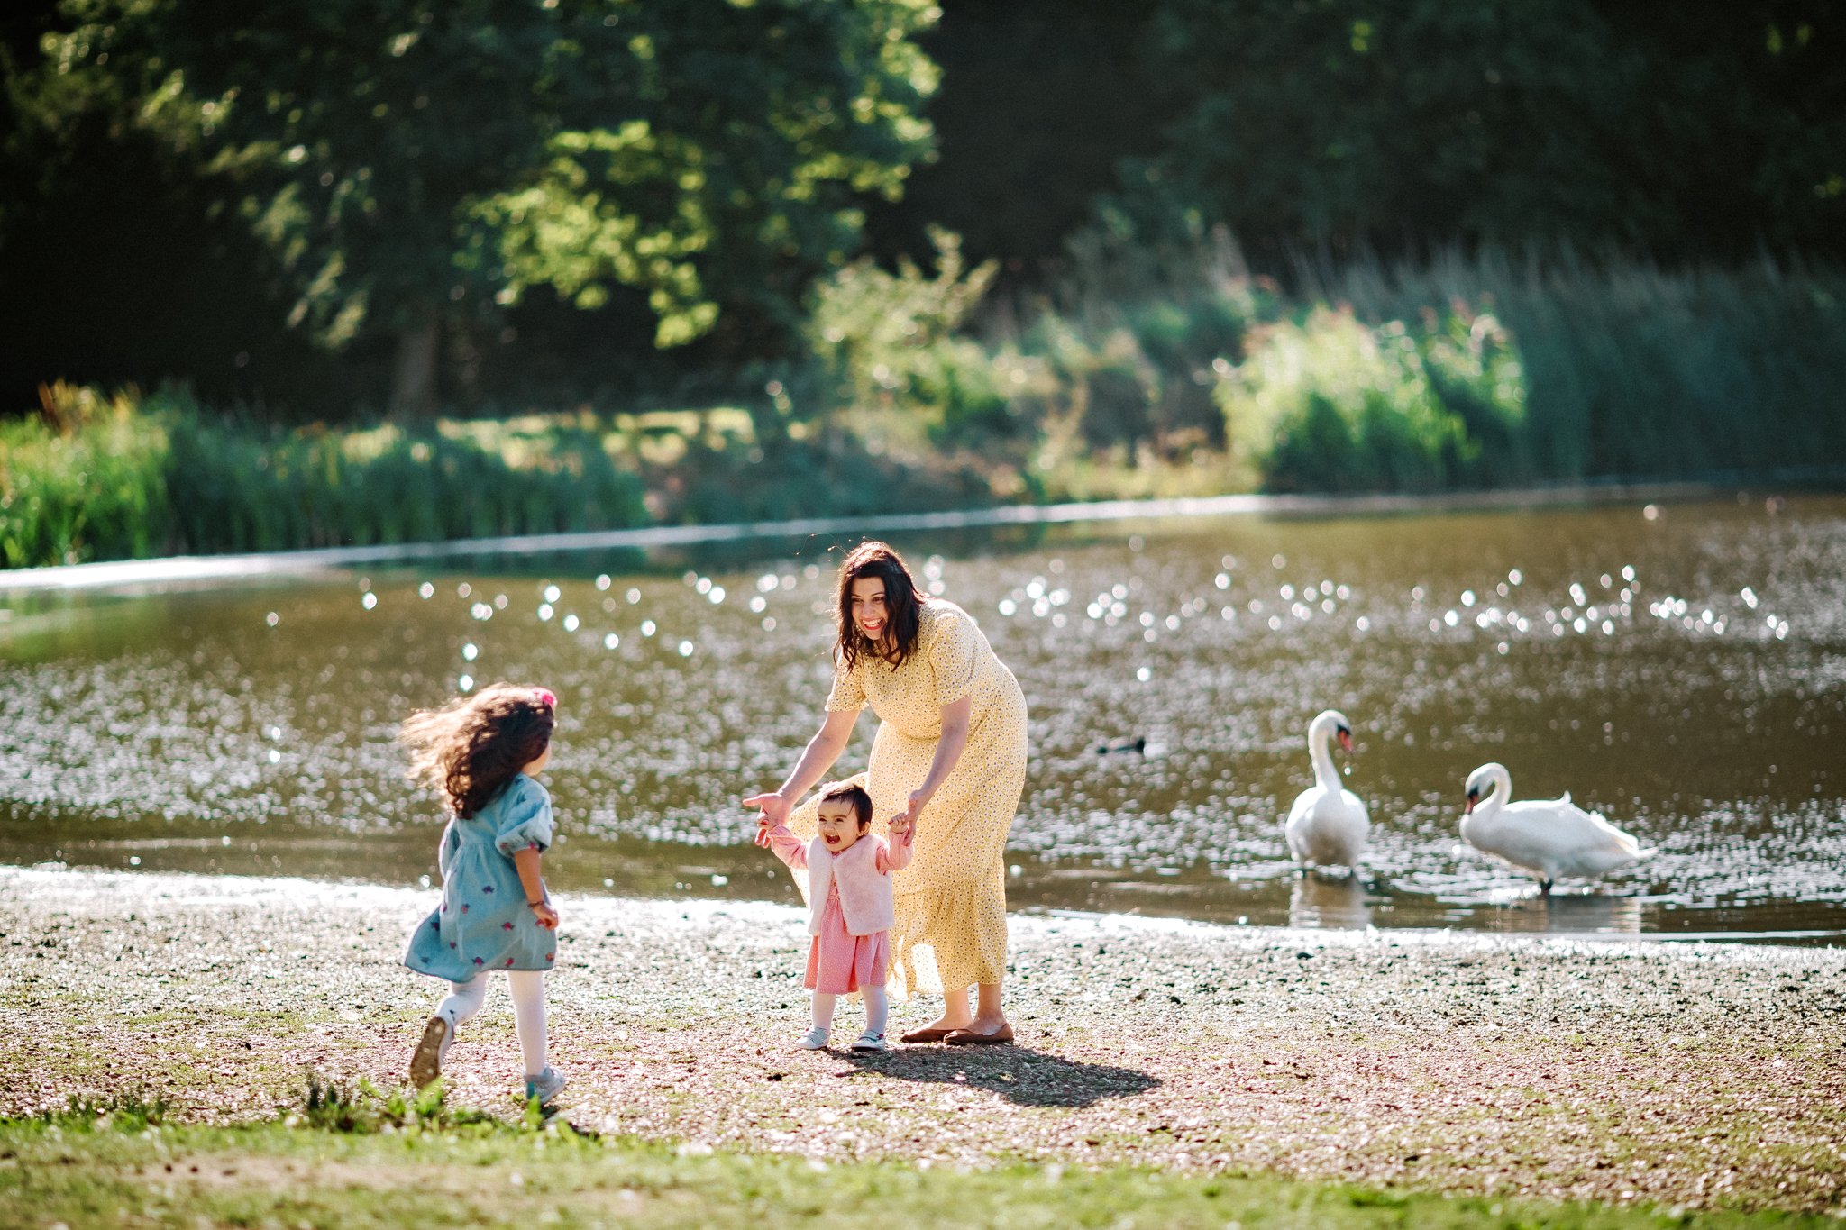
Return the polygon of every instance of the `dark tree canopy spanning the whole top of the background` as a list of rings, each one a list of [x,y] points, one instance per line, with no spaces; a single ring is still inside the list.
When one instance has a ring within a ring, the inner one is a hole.
[[[1002,288],[1217,223],[1266,273],[1846,258],[1842,0],[940,4],[17,0],[7,408],[375,404],[393,352],[399,404],[742,371],[930,227]]]

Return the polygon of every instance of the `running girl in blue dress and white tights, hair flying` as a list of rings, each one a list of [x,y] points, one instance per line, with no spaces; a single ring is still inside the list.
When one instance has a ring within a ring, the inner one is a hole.
[[[565,1086],[545,1060],[545,970],[557,957],[557,911],[539,874],[552,845],[552,797],[533,780],[552,758],[556,712],[557,697],[545,688],[491,684],[412,716],[399,734],[410,778],[449,808],[438,852],[443,904],[404,950],[412,970],[450,983],[410,1057],[417,1088],[441,1075],[456,1029],[487,998],[491,970],[506,972],[513,994],[526,1097],[545,1105]]]

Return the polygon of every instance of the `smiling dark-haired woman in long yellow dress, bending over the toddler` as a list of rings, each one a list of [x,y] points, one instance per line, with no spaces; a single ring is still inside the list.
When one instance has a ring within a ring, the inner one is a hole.
[[[1026,780],[1026,699],[975,620],[917,592],[905,561],[862,542],[840,564],[834,679],[827,719],[788,780],[744,800],[770,826],[814,832],[810,791],[871,704],[879,736],[866,773],[877,832],[905,815],[910,867],[893,880],[892,990],[941,992],[941,1016],[905,1042],[1012,1042],[1001,1011],[1006,972],[1006,834]],[[969,987],[978,988],[969,1005]]]

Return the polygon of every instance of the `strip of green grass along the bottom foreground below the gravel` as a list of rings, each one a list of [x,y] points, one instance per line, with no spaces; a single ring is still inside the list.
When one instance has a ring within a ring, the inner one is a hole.
[[[1785,1213],[1547,1204],[1150,1169],[892,1162],[596,1138],[563,1119],[329,1095],[282,1121],[162,1123],[138,1101],[0,1121],[0,1224],[50,1226],[1802,1226]]]

